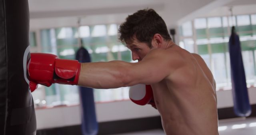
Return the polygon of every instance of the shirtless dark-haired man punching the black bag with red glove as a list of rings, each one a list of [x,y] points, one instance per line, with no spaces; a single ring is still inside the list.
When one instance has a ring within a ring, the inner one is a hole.
[[[31,54],[30,89],[38,83],[98,89],[150,84],[167,135],[218,135],[215,81],[204,60],[174,44],[164,20],[152,9],[128,16],[119,33],[139,62],[80,64]]]

